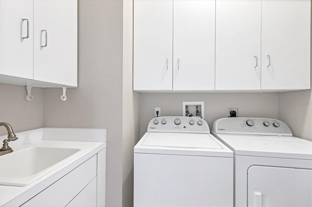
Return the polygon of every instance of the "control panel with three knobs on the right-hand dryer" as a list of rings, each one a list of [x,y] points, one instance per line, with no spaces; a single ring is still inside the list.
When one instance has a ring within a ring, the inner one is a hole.
[[[283,121],[266,118],[218,119],[214,122],[212,131],[223,134],[292,136],[291,130]]]

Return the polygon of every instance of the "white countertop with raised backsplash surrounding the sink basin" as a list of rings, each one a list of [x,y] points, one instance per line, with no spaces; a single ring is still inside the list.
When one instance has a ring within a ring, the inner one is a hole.
[[[82,164],[84,161],[88,160],[90,157],[93,155],[96,155],[99,151],[103,150],[106,148],[106,131],[98,129],[92,132],[95,132],[95,136],[89,136],[82,138],[82,136],[79,136],[76,133],[75,136],[78,136],[79,141],[74,141],[73,138],[69,138],[72,141],[60,141],[60,140],[42,140],[44,139],[44,132],[46,128],[43,129],[37,129],[37,130],[31,130],[28,132],[23,132],[23,133],[16,133],[17,137],[19,139],[28,140],[27,144],[22,144],[18,146],[10,146],[13,148],[14,152],[17,152],[19,150],[28,148],[28,147],[67,147],[67,148],[83,148],[83,150],[80,150],[76,154],[72,155],[69,160],[67,160],[65,163],[60,163],[56,164],[57,167],[53,168],[52,171],[49,173],[45,174],[41,178],[39,178],[37,181],[34,183],[24,186],[24,187],[18,187],[18,186],[5,186],[5,185],[0,185],[0,207],[10,207],[10,206],[20,206],[23,203],[25,203],[29,198],[32,198],[36,194],[38,194],[40,191],[44,190],[57,180],[59,180],[62,176],[65,174],[69,173],[70,171],[74,170],[76,167],[78,167],[80,164]],[[78,132],[90,132],[90,129],[59,129],[59,128],[48,128],[48,131],[61,131],[62,133],[64,131],[68,132],[73,132],[73,131],[78,131]],[[49,133],[50,134],[50,133]],[[85,133],[81,133],[83,135]],[[32,136],[33,141],[29,141],[29,136]],[[40,140],[40,135],[41,135],[41,140]],[[55,134],[57,136],[57,133]],[[103,136],[104,135],[104,136]],[[4,136],[0,137],[1,140]],[[61,136],[60,136],[61,137]],[[59,137],[59,138],[60,138]],[[101,137],[101,138],[98,138]],[[18,140],[19,140],[18,139]],[[80,141],[80,140],[90,140],[90,141]],[[17,140],[17,141],[18,141]],[[97,140],[98,142],[96,142]],[[15,142],[17,142],[15,141]],[[102,141],[102,142],[99,142]],[[13,152],[13,153],[14,153]],[[21,160],[22,162],[22,160]],[[1,164],[1,163],[0,163]],[[1,166],[1,168],[4,166]]]

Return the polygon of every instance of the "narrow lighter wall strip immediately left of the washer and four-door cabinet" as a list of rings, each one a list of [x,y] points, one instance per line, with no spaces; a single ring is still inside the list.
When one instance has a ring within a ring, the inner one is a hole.
[[[132,90],[133,2],[123,1],[122,206],[133,206],[133,148],[139,139],[139,98]]]

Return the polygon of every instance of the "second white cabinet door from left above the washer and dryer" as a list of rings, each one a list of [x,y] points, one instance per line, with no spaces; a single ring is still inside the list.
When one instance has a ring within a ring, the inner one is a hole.
[[[173,89],[215,89],[215,0],[174,1]]]

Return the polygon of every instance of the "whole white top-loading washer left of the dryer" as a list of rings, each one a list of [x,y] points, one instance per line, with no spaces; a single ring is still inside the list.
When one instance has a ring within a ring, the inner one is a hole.
[[[233,207],[233,156],[200,118],[152,119],[134,148],[134,206]]]

